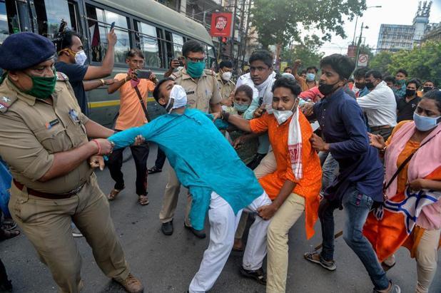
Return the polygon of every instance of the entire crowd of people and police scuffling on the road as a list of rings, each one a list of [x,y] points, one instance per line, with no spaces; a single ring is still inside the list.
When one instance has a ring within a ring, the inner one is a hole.
[[[166,160],[171,166],[159,213],[164,235],[173,234],[181,185],[188,189],[184,227],[198,238],[209,231],[188,292],[208,292],[231,250],[243,251],[243,277],[268,293],[286,292],[288,234],[303,215],[306,239],[320,222],[323,240],[305,261],[334,271],[335,210],[343,210],[343,238],[374,292],[401,292],[386,272],[402,246],[416,260],[415,292],[429,292],[441,244],[441,91],[433,81],[409,78],[405,69],[395,77],[355,69],[340,54],[300,74],[301,60],[278,73],[273,55],[258,50],[234,82],[233,63],[206,69],[204,47],[193,40],[160,81],[153,72],[141,78],[137,48],[126,53],[126,73],[100,79],[111,75],[115,43],[112,30],[101,66],[87,65],[74,31],[54,42],[13,34],[0,46],[0,171],[9,174],[0,187],[10,193],[0,237],[19,235],[16,223],[61,292],[83,287],[73,232],[86,238],[106,276],[143,292],[108,207],[126,186],[125,148],[139,205],[149,203],[148,174],[162,172]],[[88,118],[85,92],[100,86],[119,93],[113,129]],[[164,112],[154,119],[149,93]],[[150,143],[158,153],[148,168]],[[107,195],[93,173],[104,165],[115,181]],[[0,274],[11,288],[3,264]]]

